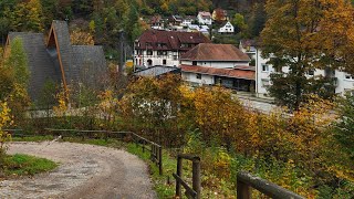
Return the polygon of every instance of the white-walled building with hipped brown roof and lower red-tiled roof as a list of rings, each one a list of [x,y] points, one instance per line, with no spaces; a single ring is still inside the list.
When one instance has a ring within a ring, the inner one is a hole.
[[[254,67],[247,54],[231,44],[201,43],[180,57],[181,77],[191,85],[216,85],[250,92]]]

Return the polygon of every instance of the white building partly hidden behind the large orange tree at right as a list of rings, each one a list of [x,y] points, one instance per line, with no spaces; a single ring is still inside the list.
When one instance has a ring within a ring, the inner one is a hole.
[[[270,74],[283,72],[288,73],[289,67],[283,66],[281,71],[277,71],[271,64],[267,62],[269,59],[263,59],[261,50],[257,46],[256,42],[241,41],[240,50],[254,57],[256,60],[256,93],[259,97],[269,96],[267,88],[272,84],[270,81]],[[315,70],[306,74],[308,77],[313,76],[329,76],[335,80],[335,93],[339,95],[345,95],[346,93],[354,94],[354,77],[345,72],[330,71],[330,70]]]

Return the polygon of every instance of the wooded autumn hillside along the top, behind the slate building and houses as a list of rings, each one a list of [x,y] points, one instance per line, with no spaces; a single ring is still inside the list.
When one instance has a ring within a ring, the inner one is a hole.
[[[91,34],[95,44],[114,50],[119,31],[132,42],[147,28],[140,19],[149,15],[197,15],[222,8],[231,18],[241,13],[247,21],[256,3],[264,0],[1,0],[0,39],[3,45],[9,31],[46,32],[56,19],[67,20],[71,31]]]

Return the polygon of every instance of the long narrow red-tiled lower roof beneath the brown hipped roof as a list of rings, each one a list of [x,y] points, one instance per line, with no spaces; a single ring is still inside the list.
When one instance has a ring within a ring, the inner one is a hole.
[[[216,69],[206,67],[199,65],[180,65],[183,72],[197,73],[197,74],[208,74],[216,76],[226,76],[232,78],[243,78],[243,80],[256,80],[256,72],[252,70],[242,69]]]

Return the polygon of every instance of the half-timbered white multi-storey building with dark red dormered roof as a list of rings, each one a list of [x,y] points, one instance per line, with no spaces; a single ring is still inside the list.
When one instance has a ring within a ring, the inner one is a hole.
[[[178,66],[180,55],[199,43],[210,43],[210,40],[199,32],[147,30],[135,41],[134,65],[139,69]]]

